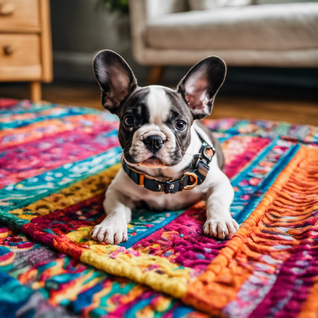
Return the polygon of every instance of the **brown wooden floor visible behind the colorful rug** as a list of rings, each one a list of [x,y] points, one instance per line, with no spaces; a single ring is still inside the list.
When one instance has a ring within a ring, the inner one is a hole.
[[[0,97],[28,98],[25,84],[0,83]],[[53,83],[43,85],[43,99],[65,105],[103,109],[96,84]],[[288,121],[318,126],[318,102],[306,100],[267,100],[263,98],[217,96],[210,118],[236,117]]]

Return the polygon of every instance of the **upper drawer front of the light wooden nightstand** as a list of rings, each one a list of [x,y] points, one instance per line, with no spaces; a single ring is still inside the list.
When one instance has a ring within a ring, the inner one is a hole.
[[[0,0],[0,32],[39,31],[39,0]]]

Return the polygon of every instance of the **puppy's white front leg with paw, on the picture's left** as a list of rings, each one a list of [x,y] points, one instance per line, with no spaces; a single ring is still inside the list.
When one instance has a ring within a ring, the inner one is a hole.
[[[120,191],[108,188],[103,203],[106,218],[91,231],[94,240],[106,244],[120,244],[128,240],[127,222],[131,220],[131,206],[127,206],[126,201],[130,200]]]

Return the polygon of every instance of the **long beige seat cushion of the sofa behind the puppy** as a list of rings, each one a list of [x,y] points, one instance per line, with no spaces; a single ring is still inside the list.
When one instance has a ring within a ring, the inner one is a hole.
[[[157,49],[290,50],[318,47],[318,3],[223,7],[166,14],[146,24]]]

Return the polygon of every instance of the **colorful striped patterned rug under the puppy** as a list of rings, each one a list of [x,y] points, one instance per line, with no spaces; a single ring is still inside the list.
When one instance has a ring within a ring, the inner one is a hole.
[[[199,202],[137,210],[128,241],[105,245],[89,232],[119,169],[117,117],[0,100],[0,317],[318,317],[318,128],[205,123],[239,231],[205,236]]]

